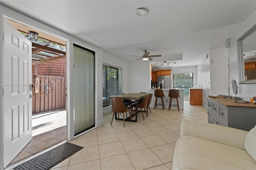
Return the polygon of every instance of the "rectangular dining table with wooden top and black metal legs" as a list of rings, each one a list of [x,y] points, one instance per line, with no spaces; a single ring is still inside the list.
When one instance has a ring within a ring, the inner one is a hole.
[[[133,100],[136,102],[136,108],[135,108],[135,113],[132,113],[132,117],[136,117],[135,121],[132,120],[133,122],[137,122],[138,120],[138,105],[139,105],[139,99],[144,98],[146,95],[149,95],[150,93],[126,93],[126,94],[121,94],[121,95],[114,95],[114,96],[110,96],[110,97],[120,97],[123,100]],[[117,118],[117,113],[115,113],[115,119],[116,120],[123,120],[121,118]],[[131,121],[130,117],[127,117],[126,119],[124,119],[124,121]]]

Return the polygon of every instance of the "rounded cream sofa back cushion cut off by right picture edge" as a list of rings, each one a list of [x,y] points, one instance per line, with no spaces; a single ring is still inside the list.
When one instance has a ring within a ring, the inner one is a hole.
[[[256,126],[252,128],[245,137],[244,148],[256,161]]]

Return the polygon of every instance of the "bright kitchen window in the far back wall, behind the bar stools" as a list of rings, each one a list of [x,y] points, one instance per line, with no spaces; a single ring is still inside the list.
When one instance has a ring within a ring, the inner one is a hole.
[[[173,74],[174,89],[184,89],[184,96],[189,96],[189,89],[193,87],[193,73]]]

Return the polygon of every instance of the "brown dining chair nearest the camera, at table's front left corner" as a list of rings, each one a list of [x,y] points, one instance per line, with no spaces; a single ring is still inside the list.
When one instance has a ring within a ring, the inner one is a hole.
[[[124,122],[124,112],[127,113],[127,111],[129,111],[129,114],[130,114],[130,119],[132,121],[132,115],[131,115],[131,112],[130,112],[130,109],[127,108],[125,105],[124,105],[124,102],[122,100],[121,97],[111,97],[111,105],[112,105],[112,111],[113,111],[113,116],[112,116],[112,120],[111,120],[111,125],[112,125],[112,122],[113,122],[113,118],[114,118],[114,114],[117,113],[118,114],[118,120],[119,120],[119,113],[122,113],[123,114],[123,122]],[[127,116],[126,116],[127,118]],[[125,125],[124,125],[125,127]]]

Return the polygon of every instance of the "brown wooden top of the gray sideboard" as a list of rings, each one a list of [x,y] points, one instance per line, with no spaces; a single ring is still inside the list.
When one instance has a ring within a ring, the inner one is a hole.
[[[212,97],[207,97],[209,99],[212,99],[213,101],[216,101],[224,106],[232,106],[232,107],[252,107],[256,108],[255,104],[252,103],[236,103],[236,100],[234,99],[222,99],[222,98],[212,98]]]

